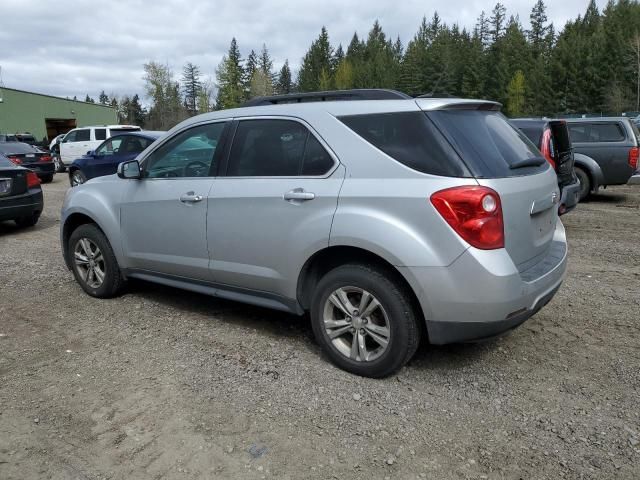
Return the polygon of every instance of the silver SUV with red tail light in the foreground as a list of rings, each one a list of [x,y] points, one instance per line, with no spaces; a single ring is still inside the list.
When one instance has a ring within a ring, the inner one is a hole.
[[[67,266],[95,297],[138,278],[308,312],[328,357],[370,377],[422,337],[515,328],[565,274],[555,172],[499,104],[387,94],[184,121],[68,191]]]

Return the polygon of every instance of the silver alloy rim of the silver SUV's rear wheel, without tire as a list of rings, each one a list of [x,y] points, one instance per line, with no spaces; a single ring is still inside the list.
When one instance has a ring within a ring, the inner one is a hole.
[[[341,287],[327,298],[323,322],[333,346],[357,362],[379,358],[389,346],[389,317],[370,292],[359,287]]]

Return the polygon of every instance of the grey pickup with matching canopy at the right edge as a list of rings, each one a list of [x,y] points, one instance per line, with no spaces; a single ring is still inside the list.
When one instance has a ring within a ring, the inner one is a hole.
[[[580,199],[600,187],[623,185],[638,167],[638,128],[626,117],[567,119]]]

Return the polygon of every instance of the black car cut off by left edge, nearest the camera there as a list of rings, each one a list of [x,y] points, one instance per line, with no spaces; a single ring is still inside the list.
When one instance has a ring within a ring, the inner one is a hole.
[[[0,153],[0,221],[31,227],[38,223],[43,208],[38,176]]]

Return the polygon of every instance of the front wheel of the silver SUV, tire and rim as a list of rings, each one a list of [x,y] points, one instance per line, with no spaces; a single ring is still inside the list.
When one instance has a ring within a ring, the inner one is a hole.
[[[124,279],[118,261],[107,237],[96,225],[80,225],[73,231],[67,255],[76,281],[92,297],[110,298],[122,289]]]

